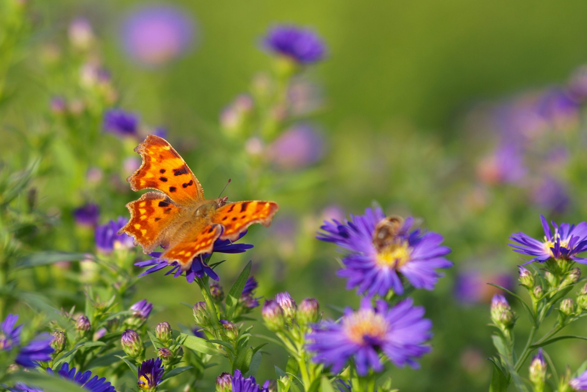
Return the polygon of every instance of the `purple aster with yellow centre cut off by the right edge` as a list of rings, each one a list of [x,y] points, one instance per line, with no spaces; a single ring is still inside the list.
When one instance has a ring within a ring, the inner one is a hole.
[[[522,232],[514,233],[510,237],[518,244],[509,244],[514,252],[534,256],[524,265],[533,261],[540,263],[548,259],[573,260],[578,263],[587,264],[587,259],[577,255],[587,250],[587,223],[581,222],[578,225],[562,223],[557,226],[551,222],[554,231],[549,227],[546,218],[540,215],[542,228],[544,229],[544,241],[538,241]]]

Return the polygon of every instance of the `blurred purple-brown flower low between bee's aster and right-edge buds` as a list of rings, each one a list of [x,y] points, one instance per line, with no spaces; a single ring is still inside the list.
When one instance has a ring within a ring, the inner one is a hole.
[[[454,283],[454,296],[458,302],[465,305],[481,302],[490,303],[495,294],[502,292],[487,283],[495,283],[508,290],[514,288],[514,278],[508,273],[483,273],[476,269],[471,269],[458,273]]]

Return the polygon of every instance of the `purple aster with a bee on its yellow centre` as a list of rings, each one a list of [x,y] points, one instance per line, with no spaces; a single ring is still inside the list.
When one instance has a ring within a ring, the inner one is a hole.
[[[391,219],[391,218],[390,218]],[[359,293],[384,296],[393,290],[402,295],[404,288],[400,276],[417,289],[431,290],[442,276],[437,268],[453,265],[444,258],[450,252],[441,246],[443,236],[435,232],[410,231],[413,218],[407,218],[394,233],[381,208],[367,208],[365,215],[351,215],[344,223],[326,221],[316,238],[333,242],[346,249],[342,262],[345,268],[338,276],[348,278],[347,288],[357,287]],[[376,236],[385,234],[382,239]]]

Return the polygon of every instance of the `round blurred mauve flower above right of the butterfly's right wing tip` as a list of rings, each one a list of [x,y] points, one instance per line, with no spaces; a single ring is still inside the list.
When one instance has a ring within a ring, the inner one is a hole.
[[[267,147],[268,158],[282,169],[294,170],[319,161],[324,154],[322,136],[308,124],[286,130]]]

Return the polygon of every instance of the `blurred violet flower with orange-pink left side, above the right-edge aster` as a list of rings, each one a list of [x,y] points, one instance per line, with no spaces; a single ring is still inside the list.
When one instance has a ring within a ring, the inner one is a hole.
[[[486,184],[518,183],[526,173],[522,148],[514,143],[498,146],[477,166],[477,176]]]

